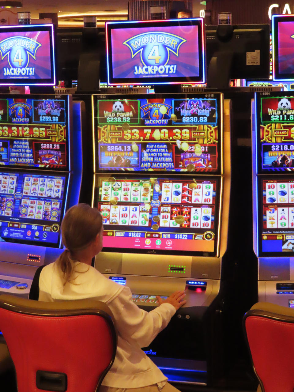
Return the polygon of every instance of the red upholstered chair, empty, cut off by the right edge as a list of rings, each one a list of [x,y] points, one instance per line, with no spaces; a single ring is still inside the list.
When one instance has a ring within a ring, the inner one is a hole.
[[[258,392],[294,390],[294,309],[259,302],[245,314],[243,328]]]

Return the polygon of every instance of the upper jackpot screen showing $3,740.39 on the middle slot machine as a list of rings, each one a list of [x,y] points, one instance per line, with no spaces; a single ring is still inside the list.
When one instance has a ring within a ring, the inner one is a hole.
[[[221,174],[221,94],[166,96],[92,96],[95,172]]]

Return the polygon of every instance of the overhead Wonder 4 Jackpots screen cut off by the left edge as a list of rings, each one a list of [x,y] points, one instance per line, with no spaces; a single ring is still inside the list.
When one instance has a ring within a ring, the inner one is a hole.
[[[53,24],[0,27],[0,85],[55,85]]]

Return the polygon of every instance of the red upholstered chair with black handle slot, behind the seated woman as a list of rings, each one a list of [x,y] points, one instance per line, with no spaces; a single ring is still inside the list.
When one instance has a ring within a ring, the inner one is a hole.
[[[105,303],[0,296],[0,330],[18,392],[96,392],[113,364],[116,331]]]

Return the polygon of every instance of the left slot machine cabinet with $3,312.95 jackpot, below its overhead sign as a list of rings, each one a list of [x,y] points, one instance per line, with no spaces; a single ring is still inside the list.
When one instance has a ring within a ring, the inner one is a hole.
[[[60,223],[80,193],[83,110],[71,95],[0,95],[0,292],[27,297],[36,268],[62,252]]]

